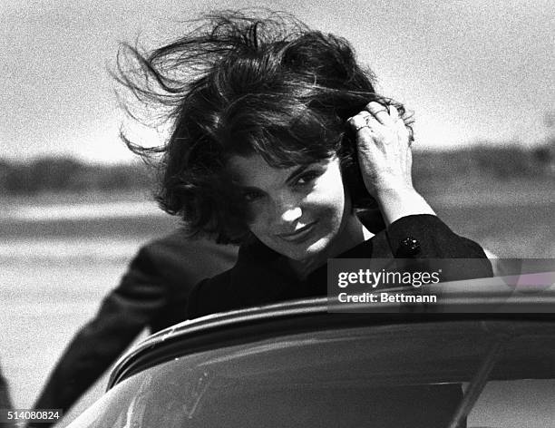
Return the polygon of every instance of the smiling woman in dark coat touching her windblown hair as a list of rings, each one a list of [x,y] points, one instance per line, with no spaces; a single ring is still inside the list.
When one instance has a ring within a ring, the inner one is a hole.
[[[232,13],[127,53],[120,82],[174,121],[161,148],[126,140],[163,153],[161,206],[193,233],[241,244],[234,268],[195,287],[190,318],[325,295],[328,258],[483,258],[465,275],[491,275],[482,248],[414,190],[410,117],[375,92],[346,40]]]

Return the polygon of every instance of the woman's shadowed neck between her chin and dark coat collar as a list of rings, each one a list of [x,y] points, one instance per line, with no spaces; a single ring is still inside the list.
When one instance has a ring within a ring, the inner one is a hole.
[[[327,263],[328,258],[335,258],[347,250],[356,247],[358,244],[372,238],[374,234],[365,228],[365,225],[352,214],[344,227],[340,230],[334,242],[326,250],[319,253],[314,258],[303,260],[288,260],[288,264],[298,277],[306,278],[311,272]]]

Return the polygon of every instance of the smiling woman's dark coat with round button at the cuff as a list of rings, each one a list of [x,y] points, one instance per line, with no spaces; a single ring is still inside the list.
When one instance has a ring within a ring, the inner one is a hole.
[[[472,270],[462,264],[443,272],[444,281],[467,277],[491,277],[492,266],[482,247],[449,229],[432,215],[398,219],[339,258],[482,258]],[[463,262],[462,262],[463,263]],[[326,266],[300,281],[287,269],[284,258],[251,238],[239,249],[236,265],[217,277],[205,279],[191,292],[188,318],[259,306],[279,301],[326,296]]]

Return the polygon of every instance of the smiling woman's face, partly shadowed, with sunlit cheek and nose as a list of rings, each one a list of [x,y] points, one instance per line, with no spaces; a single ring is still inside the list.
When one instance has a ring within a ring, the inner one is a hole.
[[[287,258],[306,260],[329,248],[351,213],[336,156],[287,169],[260,155],[234,156],[228,168],[250,206],[250,231]]]

